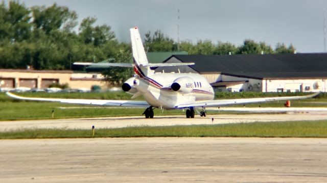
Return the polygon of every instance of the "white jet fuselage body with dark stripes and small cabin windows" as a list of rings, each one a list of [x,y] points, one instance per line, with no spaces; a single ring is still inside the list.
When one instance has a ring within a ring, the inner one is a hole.
[[[172,84],[178,79],[186,81],[180,83],[186,92],[172,90]],[[142,92],[152,107],[164,109],[175,109],[178,104],[214,98],[212,86],[197,73],[155,73],[145,76],[136,72],[134,87]]]

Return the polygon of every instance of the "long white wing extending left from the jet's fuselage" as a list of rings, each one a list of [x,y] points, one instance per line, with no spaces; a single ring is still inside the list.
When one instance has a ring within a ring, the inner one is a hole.
[[[121,107],[138,107],[147,108],[150,107],[146,101],[136,100],[98,100],[98,99],[68,99],[68,98],[34,98],[34,97],[22,97],[10,92],[6,93],[8,96],[20,100],[33,100],[33,101],[57,101],[62,103],[72,104],[87,104],[94,106],[121,106]]]

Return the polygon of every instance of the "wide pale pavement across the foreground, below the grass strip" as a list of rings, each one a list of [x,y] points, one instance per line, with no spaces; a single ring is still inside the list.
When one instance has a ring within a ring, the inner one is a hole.
[[[327,140],[0,140],[0,182],[326,182]]]

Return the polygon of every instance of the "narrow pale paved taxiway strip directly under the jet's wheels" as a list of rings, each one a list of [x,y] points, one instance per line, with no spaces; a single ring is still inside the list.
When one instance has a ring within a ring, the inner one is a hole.
[[[212,122],[214,118],[214,122]],[[132,117],[102,117],[102,118],[77,118],[77,119],[50,119],[50,120],[24,120],[24,121],[0,121],[0,131],[9,131],[27,128],[64,128],[64,129],[91,129],[117,128],[128,126],[168,126],[168,125],[193,125],[193,124],[227,124],[247,122],[271,122],[271,121],[299,121],[299,120],[326,120],[327,112],[316,111],[310,113],[288,114],[246,114],[246,115],[210,115],[194,119],[181,116],[155,116],[153,119],[145,119],[144,116]]]

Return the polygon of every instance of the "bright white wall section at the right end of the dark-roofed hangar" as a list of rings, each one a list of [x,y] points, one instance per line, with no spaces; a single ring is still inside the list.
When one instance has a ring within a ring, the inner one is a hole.
[[[295,79],[295,80],[264,80],[263,92],[326,92],[327,83],[324,79]]]

